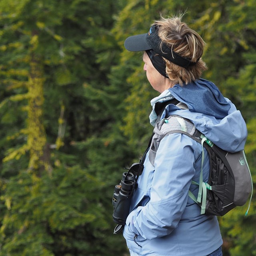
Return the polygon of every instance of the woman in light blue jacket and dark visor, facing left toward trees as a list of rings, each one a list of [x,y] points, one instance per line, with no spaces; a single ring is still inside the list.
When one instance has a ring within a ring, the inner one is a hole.
[[[150,123],[157,122],[155,106],[175,98],[160,117],[178,115],[220,148],[235,152],[244,148],[246,124],[234,104],[210,81],[200,78],[204,41],[181,18],[156,21],[146,34],[130,36],[124,46],[144,51],[144,70],[160,96],[151,101]],[[209,157],[205,150],[203,180],[208,181]],[[188,196],[197,196],[202,147],[192,138],[175,133],[164,137],[154,166],[148,154],[133,193],[123,235],[132,256],[221,256],[222,237],[216,216],[200,213]]]

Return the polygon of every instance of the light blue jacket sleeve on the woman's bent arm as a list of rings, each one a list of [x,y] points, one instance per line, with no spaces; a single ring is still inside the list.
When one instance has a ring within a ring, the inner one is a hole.
[[[135,208],[126,220],[132,234],[154,239],[170,234],[177,227],[188,201],[195,159],[201,153],[199,143],[184,134],[170,134],[161,140],[150,201]]]

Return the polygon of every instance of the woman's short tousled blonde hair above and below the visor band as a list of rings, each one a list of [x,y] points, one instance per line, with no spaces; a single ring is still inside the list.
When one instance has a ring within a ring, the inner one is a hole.
[[[158,36],[174,52],[182,57],[188,58],[194,65],[183,68],[169,60],[166,62],[166,74],[173,84],[188,84],[202,75],[207,70],[206,63],[202,60],[205,42],[201,36],[188,25],[181,21],[182,16],[173,18],[162,18],[154,23],[158,26]]]

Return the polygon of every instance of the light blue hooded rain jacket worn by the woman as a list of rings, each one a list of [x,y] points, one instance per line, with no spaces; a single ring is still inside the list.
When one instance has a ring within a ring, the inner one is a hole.
[[[189,109],[170,104],[162,118],[171,114],[188,118],[220,148],[230,152],[244,148],[244,119],[214,84],[200,79],[169,90]],[[123,231],[132,256],[206,256],[222,245],[216,216],[201,215],[200,207],[188,197],[188,190],[197,196],[198,187],[191,181],[199,181],[201,160],[201,145],[180,133],[162,139],[155,166],[146,157]],[[204,163],[203,179],[207,182],[206,150]]]

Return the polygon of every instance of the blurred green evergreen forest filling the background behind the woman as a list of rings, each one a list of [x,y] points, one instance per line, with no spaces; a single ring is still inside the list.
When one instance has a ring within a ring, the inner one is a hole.
[[[256,180],[255,0],[0,0],[0,256],[128,255],[112,193],[157,93],[123,43],[184,12],[207,43],[203,78],[246,120]],[[256,255],[255,203],[219,218],[224,256]]]

